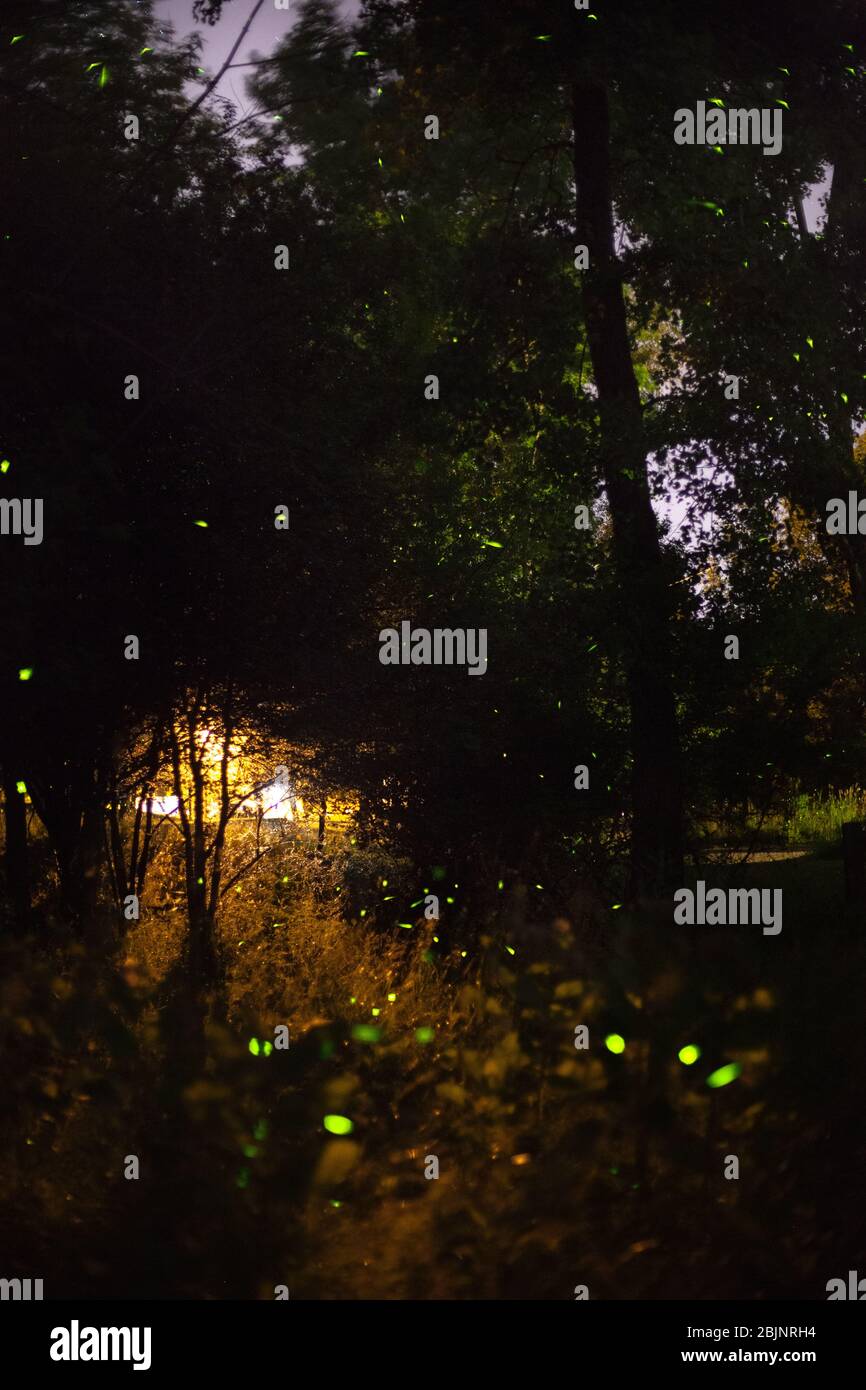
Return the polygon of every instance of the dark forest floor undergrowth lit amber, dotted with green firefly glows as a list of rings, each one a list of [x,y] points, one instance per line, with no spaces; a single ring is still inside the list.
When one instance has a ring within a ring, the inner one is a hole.
[[[0,1273],[46,1297],[824,1298],[866,1264],[863,912],[838,860],[712,873],[781,888],[783,931],[646,909],[435,955],[310,894],[272,923],[265,883],[224,923],[228,1022],[174,1105],[179,917],[99,977],[7,945]],[[284,1020],[289,1048],[253,1052]]]

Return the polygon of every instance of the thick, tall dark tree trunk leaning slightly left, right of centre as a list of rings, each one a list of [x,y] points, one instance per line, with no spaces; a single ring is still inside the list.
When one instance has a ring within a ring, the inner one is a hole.
[[[599,399],[602,467],[621,596],[631,717],[631,891],[683,878],[683,781],[671,678],[670,594],[646,473],[641,398],[614,249],[609,107],[603,86],[573,88],[577,239],[589,253],[584,317]]]

